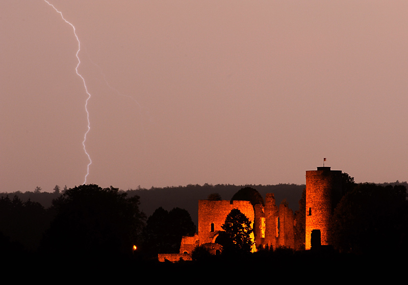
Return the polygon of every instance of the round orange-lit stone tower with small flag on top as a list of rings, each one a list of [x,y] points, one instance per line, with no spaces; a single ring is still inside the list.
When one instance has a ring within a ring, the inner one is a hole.
[[[341,170],[327,166],[306,172],[306,249],[312,243],[328,245],[330,219],[341,197],[341,177]]]

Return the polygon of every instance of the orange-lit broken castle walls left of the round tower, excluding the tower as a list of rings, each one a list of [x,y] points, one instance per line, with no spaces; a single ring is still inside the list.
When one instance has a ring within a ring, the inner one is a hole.
[[[251,236],[256,248],[276,248],[285,246],[294,248],[294,216],[288,205],[275,205],[272,193],[266,194],[265,206],[252,206],[249,201],[198,201],[198,233],[194,237],[183,237],[180,253],[191,253],[197,245],[205,244],[214,249],[219,231],[222,231],[226,216],[233,209],[240,210],[250,221],[253,229]],[[213,248],[214,246],[214,248]],[[219,249],[219,248],[218,248]],[[211,250],[210,250],[211,251]]]

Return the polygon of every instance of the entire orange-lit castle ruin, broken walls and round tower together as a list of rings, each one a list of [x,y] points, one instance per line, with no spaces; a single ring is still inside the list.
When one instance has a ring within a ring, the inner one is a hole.
[[[328,245],[329,221],[334,208],[341,198],[341,170],[317,167],[306,171],[305,249],[312,245]],[[259,193],[258,193],[259,194]],[[275,204],[273,193],[267,193],[265,205],[252,205],[249,201],[222,200],[198,201],[198,233],[193,237],[183,237],[180,254],[159,254],[159,260],[191,260],[191,252],[196,246],[205,245],[213,254],[222,247],[217,244],[226,216],[232,209],[240,210],[250,221],[253,229],[252,251],[257,248],[287,247],[295,249],[295,224],[293,211],[287,203]],[[301,209],[300,209],[301,210]]]

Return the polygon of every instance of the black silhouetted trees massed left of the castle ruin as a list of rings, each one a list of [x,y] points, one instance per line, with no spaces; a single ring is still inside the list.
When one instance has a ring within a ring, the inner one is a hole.
[[[107,260],[136,254],[156,258],[177,253],[181,237],[194,235],[195,224],[181,208],[158,208],[148,219],[140,197],[118,188],[80,185],[65,189],[44,208],[14,195],[0,198],[0,252],[11,259],[22,255]],[[19,252],[19,255],[16,255]]]

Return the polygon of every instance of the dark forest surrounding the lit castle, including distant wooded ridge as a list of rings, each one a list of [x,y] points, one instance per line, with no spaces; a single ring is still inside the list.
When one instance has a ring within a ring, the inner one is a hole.
[[[346,178],[349,180],[344,181],[343,197],[333,216],[333,251],[276,248],[234,257],[234,261],[277,266],[282,260],[294,264],[318,261],[324,254],[324,259],[343,264],[407,253],[407,183],[355,184],[348,175]],[[182,269],[197,263],[203,266],[203,262],[224,263],[228,257],[200,260],[204,255],[196,254],[195,262],[165,265],[157,262],[157,254],[177,253],[181,237],[194,235],[198,200],[213,193],[230,200],[243,187],[256,189],[262,196],[275,193],[277,203],[286,200],[294,211],[303,207],[304,185],[294,184],[205,184],[127,191],[81,185],[62,190],[56,186],[53,193],[37,187],[33,192],[1,193],[0,252],[14,265],[33,260],[50,266],[55,264],[50,260],[71,265],[73,261],[109,264],[115,260],[121,266]]]

